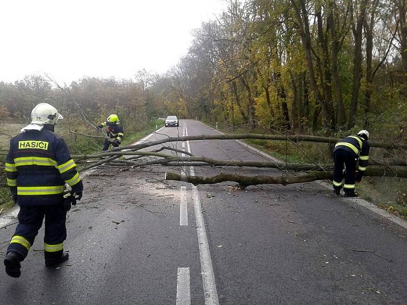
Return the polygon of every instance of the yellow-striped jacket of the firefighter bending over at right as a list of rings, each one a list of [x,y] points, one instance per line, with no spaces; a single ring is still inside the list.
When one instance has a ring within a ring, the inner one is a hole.
[[[365,172],[367,167],[367,162],[369,161],[369,142],[359,136],[348,136],[340,140],[335,145],[335,150],[343,149],[351,153],[351,156],[355,158],[355,161],[359,159],[358,170],[362,174]]]

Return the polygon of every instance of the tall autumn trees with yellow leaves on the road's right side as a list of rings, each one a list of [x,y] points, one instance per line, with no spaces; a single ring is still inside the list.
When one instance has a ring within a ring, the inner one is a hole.
[[[165,99],[232,126],[389,127],[405,138],[406,10],[404,0],[231,0],[195,30]]]

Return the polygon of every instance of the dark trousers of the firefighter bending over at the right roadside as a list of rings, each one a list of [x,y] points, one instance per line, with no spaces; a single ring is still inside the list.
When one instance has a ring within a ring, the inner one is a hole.
[[[343,165],[345,165],[345,183],[343,191],[345,193],[355,192],[355,170],[357,159],[355,155],[344,149],[336,149],[334,151],[334,173],[332,182],[334,190],[339,191],[342,188]]]

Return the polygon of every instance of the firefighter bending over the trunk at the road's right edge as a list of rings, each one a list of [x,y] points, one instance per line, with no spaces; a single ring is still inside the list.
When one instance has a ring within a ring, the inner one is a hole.
[[[358,197],[355,193],[355,182],[362,180],[363,173],[366,171],[367,162],[369,161],[370,145],[367,141],[369,132],[361,130],[355,136],[348,136],[340,140],[334,149],[334,173],[333,187],[334,193],[339,195],[342,189],[343,164],[345,165],[345,182],[343,191],[345,197]],[[357,162],[359,166],[356,169]]]

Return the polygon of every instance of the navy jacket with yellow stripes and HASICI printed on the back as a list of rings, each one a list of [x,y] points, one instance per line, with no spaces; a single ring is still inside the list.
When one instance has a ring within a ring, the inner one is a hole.
[[[27,130],[10,140],[6,174],[20,206],[62,203],[65,183],[72,192],[83,190],[65,141],[45,128]]]

